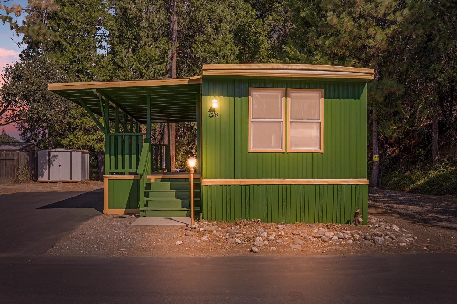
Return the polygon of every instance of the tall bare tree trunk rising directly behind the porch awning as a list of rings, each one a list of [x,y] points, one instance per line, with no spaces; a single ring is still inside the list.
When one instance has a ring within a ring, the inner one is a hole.
[[[168,78],[176,78],[176,42],[177,42],[177,0],[168,0],[168,13],[170,16],[170,41],[171,50],[168,52],[167,75]],[[170,134],[167,134],[170,140],[170,167],[176,169],[176,124],[170,123]]]

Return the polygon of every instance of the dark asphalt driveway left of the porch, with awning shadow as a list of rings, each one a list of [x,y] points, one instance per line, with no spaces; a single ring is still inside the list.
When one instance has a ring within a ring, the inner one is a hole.
[[[0,255],[45,253],[102,208],[103,189],[0,195]]]

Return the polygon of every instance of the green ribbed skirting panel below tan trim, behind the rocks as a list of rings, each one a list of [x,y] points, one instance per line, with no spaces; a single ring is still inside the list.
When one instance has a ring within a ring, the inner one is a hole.
[[[367,224],[368,185],[202,185],[206,220]]]

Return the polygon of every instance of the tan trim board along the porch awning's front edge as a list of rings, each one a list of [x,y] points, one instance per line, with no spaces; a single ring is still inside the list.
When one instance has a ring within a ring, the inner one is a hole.
[[[176,84],[201,84],[202,76],[186,78],[164,78],[164,79],[143,79],[143,80],[113,80],[113,81],[89,81],[69,82],[61,84],[48,84],[49,91],[68,89],[104,89],[104,88],[125,88],[125,87],[149,87],[159,85]]]

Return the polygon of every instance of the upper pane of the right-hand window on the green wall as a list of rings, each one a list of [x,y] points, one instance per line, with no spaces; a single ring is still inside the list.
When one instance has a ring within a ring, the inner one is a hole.
[[[320,93],[291,92],[290,119],[320,119]]]

